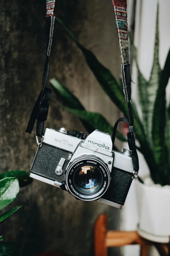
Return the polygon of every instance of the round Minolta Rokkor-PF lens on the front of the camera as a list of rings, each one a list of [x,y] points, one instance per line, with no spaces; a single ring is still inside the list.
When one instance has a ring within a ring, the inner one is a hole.
[[[73,160],[66,171],[65,183],[69,192],[84,201],[100,198],[107,190],[110,173],[106,163],[93,155]]]

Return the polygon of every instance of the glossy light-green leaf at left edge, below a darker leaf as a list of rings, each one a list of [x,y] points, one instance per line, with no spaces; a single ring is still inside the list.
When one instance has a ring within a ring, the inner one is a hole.
[[[0,210],[10,204],[19,192],[17,178],[5,178],[0,180]]]

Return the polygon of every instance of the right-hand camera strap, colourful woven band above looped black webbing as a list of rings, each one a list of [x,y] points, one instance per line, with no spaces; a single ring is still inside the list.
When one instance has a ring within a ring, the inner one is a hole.
[[[114,145],[116,130],[118,123],[123,121],[129,125],[129,132],[127,134],[127,140],[129,149],[132,151],[132,162],[134,166],[133,179],[137,178],[139,171],[139,160],[136,151],[135,137],[134,137],[134,117],[131,108],[131,74],[129,63],[129,44],[128,44],[128,26],[127,26],[127,1],[126,0],[112,0],[116,26],[119,37],[120,56],[121,56],[121,75],[123,83],[123,92],[125,95],[125,101],[128,104],[128,117],[120,118],[116,122],[113,128],[112,144]]]

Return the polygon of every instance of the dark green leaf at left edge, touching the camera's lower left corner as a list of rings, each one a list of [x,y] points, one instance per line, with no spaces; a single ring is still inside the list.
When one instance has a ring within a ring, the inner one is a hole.
[[[8,171],[0,174],[0,179],[12,178],[12,177],[18,179],[20,187],[27,186],[33,181],[33,179],[29,177],[28,171],[14,170],[14,171]]]

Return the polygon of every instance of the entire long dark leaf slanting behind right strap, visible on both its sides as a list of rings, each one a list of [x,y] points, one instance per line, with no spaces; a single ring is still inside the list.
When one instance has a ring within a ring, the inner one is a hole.
[[[103,90],[106,92],[106,94],[110,97],[110,99],[116,104],[116,106],[124,113],[124,115],[127,117],[127,104],[125,103],[124,94],[122,89],[120,88],[120,85],[116,81],[116,79],[113,77],[111,72],[104,67],[94,56],[94,54],[87,50],[84,46],[82,46],[77,38],[74,36],[73,32],[64,24],[64,22],[56,16],[56,20],[64,27],[64,29],[67,31],[69,36],[75,41],[75,43],[78,45],[79,49],[82,51],[86,62],[90,69],[92,70],[94,76],[98,80],[99,84],[102,86]],[[148,142],[147,138],[145,136],[145,131],[143,128],[143,124],[141,123],[138,113],[135,109],[135,106],[132,106],[134,111],[134,128],[135,128],[135,134],[136,138],[138,139],[141,147],[144,146],[144,152],[145,157],[149,155],[149,147],[147,147]],[[147,150],[148,149],[148,150]],[[152,155],[152,154],[150,154]],[[152,164],[152,158],[149,159],[149,165],[150,167],[153,167]]]

